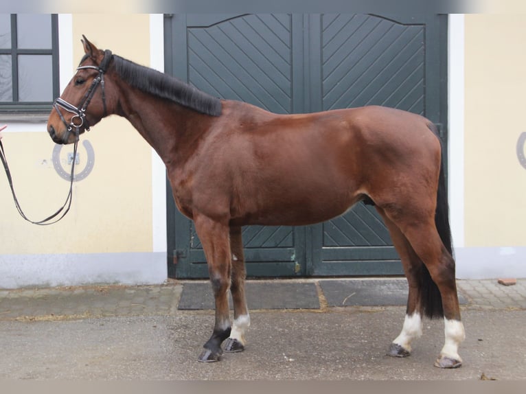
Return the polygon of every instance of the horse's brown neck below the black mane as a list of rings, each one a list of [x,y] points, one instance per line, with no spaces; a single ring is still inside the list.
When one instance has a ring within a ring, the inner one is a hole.
[[[126,100],[121,103],[121,115],[130,121],[166,165],[185,161],[216,119],[145,93],[134,93],[124,96]]]

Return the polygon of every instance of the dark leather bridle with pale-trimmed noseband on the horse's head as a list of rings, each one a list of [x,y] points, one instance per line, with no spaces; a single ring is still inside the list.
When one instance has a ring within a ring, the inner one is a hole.
[[[84,126],[85,129],[89,131],[89,123],[86,119],[86,108],[88,107],[88,104],[91,102],[91,99],[93,98],[93,95],[95,94],[95,90],[97,89],[97,86],[99,86],[102,89],[102,105],[104,106],[104,116],[108,115],[106,111],[106,95],[104,94],[104,73],[106,72],[106,69],[108,69],[108,65],[112,59],[111,51],[106,49],[104,51],[104,58],[102,59],[102,62],[100,62],[100,65],[97,66],[80,66],[77,67],[78,70],[82,69],[94,69],[99,71],[99,75],[97,78],[91,82],[91,86],[89,86],[88,91],[84,95],[84,99],[80,103],[79,106],[74,106],[73,104],[69,104],[66,100],[62,100],[60,97],[57,97],[55,102],[53,103],[53,107],[55,108],[56,112],[58,113],[58,116],[62,120],[62,123],[65,124],[67,128],[67,133],[62,138],[63,141],[67,142],[69,139],[69,134],[75,128],[75,137],[76,141],[78,141],[78,136],[80,135],[80,128]],[[80,108],[79,108],[80,107]],[[73,113],[73,116],[69,120],[69,124],[67,123],[65,117],[60,112],[60,108],[65,109],[69,113]]]

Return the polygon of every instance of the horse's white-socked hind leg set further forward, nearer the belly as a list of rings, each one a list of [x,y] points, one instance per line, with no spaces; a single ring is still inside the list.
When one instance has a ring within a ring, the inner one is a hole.
[[[422,336],[422,285],[420,283],[419,273],[424,264],[416,255],[415,251],[409,244],[409,241],[402,234],[402,231],[398,229],[396,224],[385,215],[383,209],[376,207],[376,210],[382,216],[391,240],[400,255],[402,260],[402,267],[404,268],[405,276],[407,277],[407,283],[409,284],[409,295],[407,297],[407,309],[404,319],[404,325],[402,331],[389,347],[387,353],[392,357],[407,357],[411,354],[411,342]],[[425,269],[425,268],[424,268]]]

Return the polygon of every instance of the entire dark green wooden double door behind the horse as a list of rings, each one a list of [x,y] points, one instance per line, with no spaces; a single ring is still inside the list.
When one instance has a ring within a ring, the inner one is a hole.
[[[198,89],[275,113],[380,104],[444,123],[445,21],[176,14],[165,20],[165,69]],[[402,273],[382,220],[363,204],[310,227],[246,227],[243,238],[249,277]],[[168,242],[171,277],[207,277],[193,224],[175,209],[171,192]]]

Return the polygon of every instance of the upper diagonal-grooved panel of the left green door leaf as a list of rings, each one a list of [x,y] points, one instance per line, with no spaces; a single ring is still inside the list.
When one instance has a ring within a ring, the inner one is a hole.
[[[198,89],[275,113],[290,113],[291,19],[244,15],[187,27],[187,80]]]

